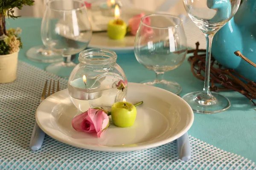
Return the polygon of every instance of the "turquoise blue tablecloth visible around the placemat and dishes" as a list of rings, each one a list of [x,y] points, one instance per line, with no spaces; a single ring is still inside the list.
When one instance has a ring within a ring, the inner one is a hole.
[[[48,64],[33,62],[26,58],[26,51],[35,45],[42,45],[40,37],[41,19],[19,18],[7,20],[7,27],[22,29],[23,49],[19,60],[44,69]],[[153,79],[155,74],[140,65],[134,53],[118,54],[117,63],[123,68],[129,82]],[[166,79],[180,83],[183,90],[180,96],[203,88],[202,81],[196,79],[187,60],[180,67],[169,71]],[[223,92],[231,101],[231,108],[223,113],[204,115],[195,113],[195,121],[189,134],[222,150],[256,161],[256,111],[250,101],[237,92]]]

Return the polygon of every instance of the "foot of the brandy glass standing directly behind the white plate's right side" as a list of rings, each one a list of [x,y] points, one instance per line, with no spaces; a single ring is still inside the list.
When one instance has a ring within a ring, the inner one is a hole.
[[[182,87],[179,83],[177,82],[171,82],[167,80],[161,80],[161,81],[156,81],[156,80],[146,80],[143,82],[140,82],[143,85],[151,85],[157,88],[163,88],[167,91],[170,91],[174,94],[179,94],[182,90]]]

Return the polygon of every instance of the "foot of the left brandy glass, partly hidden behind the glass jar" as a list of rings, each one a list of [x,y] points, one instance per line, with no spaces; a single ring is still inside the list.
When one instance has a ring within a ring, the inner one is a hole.
[[[76,64],[74,62],[57,62],[49,65],[47,68],[45,68],[45,71],[55,74],[59,77],[63,78],[69,78],[70,73],[75,68]]]

